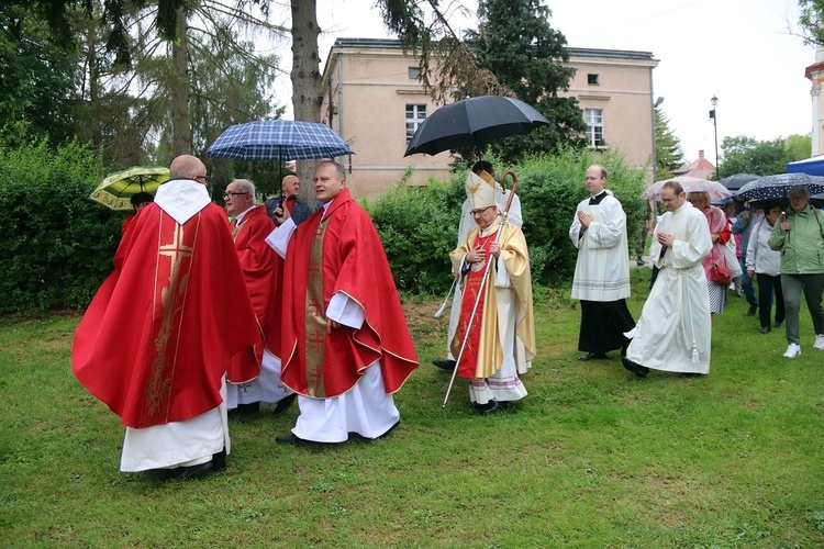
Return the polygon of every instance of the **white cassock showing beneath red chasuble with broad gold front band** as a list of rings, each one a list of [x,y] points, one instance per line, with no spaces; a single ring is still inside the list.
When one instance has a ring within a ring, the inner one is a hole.
[[[332,202],[323,205],[327,209]],[[289,240],[296,225],[289,217],[266,238],[266,243],[286,258]],[[359,329],[366,321],[366,312],[354,300],[336,292],[330,300],[326,317],[344,326]],[[343,442],[349,433],[364,438],[377,438],[391,429],[401,413],[394,399],[383,388],[380,360],[369,366],[355,386],[348,392],[329,399],[311,399],[298,395],[300,415],[292,428],[294,436],[313,442]]]

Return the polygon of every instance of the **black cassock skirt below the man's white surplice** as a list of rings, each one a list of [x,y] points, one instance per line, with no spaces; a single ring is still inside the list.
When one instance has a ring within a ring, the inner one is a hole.
[[[581,330],[578,335],[578,350],[609,352],[621,349],[623,356],[630,345],[630,340],[624,337],[624,332],[630,332],[634,327],[635,321],[626,307],[626,300],[581,300]]]

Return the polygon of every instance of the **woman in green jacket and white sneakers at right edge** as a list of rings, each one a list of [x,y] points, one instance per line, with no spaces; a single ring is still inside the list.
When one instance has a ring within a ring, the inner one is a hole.
[[[779,217],[769,239],[770,248],[781,253],[781,289],[787,314],[787,352],[801,355],[799,307],[801,292],[815,327],[813,347],[824,350],[824,215],[810,204],[810,189],[795,186],[787,192],[790,208]]]

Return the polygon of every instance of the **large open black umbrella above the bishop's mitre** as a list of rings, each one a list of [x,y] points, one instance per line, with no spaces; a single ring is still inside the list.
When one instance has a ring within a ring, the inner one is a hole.
[[[501,137],[523,135],[549,121],[513,98],[482,96],[442,107],[417,126],[403,156],[436,155],[460,147],[480,147]]]

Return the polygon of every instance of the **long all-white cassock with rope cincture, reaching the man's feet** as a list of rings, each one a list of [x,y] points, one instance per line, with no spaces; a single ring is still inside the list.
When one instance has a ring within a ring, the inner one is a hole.
[[[671,234],[676,240],[661,257],[661,245],[653,237],[649,257],[661,270],[626,358],[655,370],[710,373],[710,299],[701,266],[712,249],[706,217],[684,202],[661,216],[653,234],[658,233]]]

